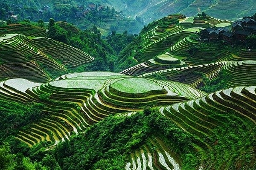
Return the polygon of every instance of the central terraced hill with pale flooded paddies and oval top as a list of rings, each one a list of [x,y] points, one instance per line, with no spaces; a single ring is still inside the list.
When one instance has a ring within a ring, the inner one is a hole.
[[[1,84],[0,98],[47,106],[43,112],[49,116],[16,136],[29,147],[44,140],[57,144],[109,114],[136,112],[145,106],[161,106],[205,95],[183,84],[108,72],[68,74],[46,84],[25,79],[10,79]],[[126,87],[131,84],[134,86]]]

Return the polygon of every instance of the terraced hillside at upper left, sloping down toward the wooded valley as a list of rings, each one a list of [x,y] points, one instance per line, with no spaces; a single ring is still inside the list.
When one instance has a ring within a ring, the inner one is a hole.
[[[49,47],[50,46],[50,47]],[[47,82],[47,70],[63,72],[69,66],[93,61],[85,52],[46,37],[7,34],[0,37],[0,78]]]

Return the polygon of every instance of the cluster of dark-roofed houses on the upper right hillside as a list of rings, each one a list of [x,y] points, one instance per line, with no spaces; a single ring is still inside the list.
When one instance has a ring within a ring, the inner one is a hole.
[[[226,27],[204,29],[201,31],[201,39],[226,40],[227,42],[245,41],[246,37],[252,34],[256,34],[256,21],[247,17],[232,23],[232,30],[228,30]]]

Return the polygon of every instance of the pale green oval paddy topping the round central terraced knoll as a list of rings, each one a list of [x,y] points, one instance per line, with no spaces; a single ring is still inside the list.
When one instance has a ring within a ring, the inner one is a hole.
[[[154,81],[145,78],[125,78],[115,83],[111,86],[121,92],[126,93],[145,93],[151,90],[162,90],[163,87]]]

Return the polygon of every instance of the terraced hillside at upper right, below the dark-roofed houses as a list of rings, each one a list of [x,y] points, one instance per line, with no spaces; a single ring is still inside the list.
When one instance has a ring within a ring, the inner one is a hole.
[[[168,22],[168,17],[152,23],[157,26],[142,35],[140,48],[135,50],[133,57],[140,63],[120,73],[201,87],[206,81],[204,78],[214,81],[221,72],[227,76],[222,83],[226,88],[256,84],[253,74],[256,71],[255,50],[247,50],[245,46],[239,45],[234,48],[221,41],[198,40],[196,32],[201,29],[230,24],[230,21],[210,17],[205,19],[205,23],[189,23],[185,20],[171,28],[161,26],[161,22]],[[181,34],[183,35],[180,37]],[[182,64],[175,65],[167,59],[161,59],[160,56],[164,55],[174,58],[173,62],[176,60]]]

